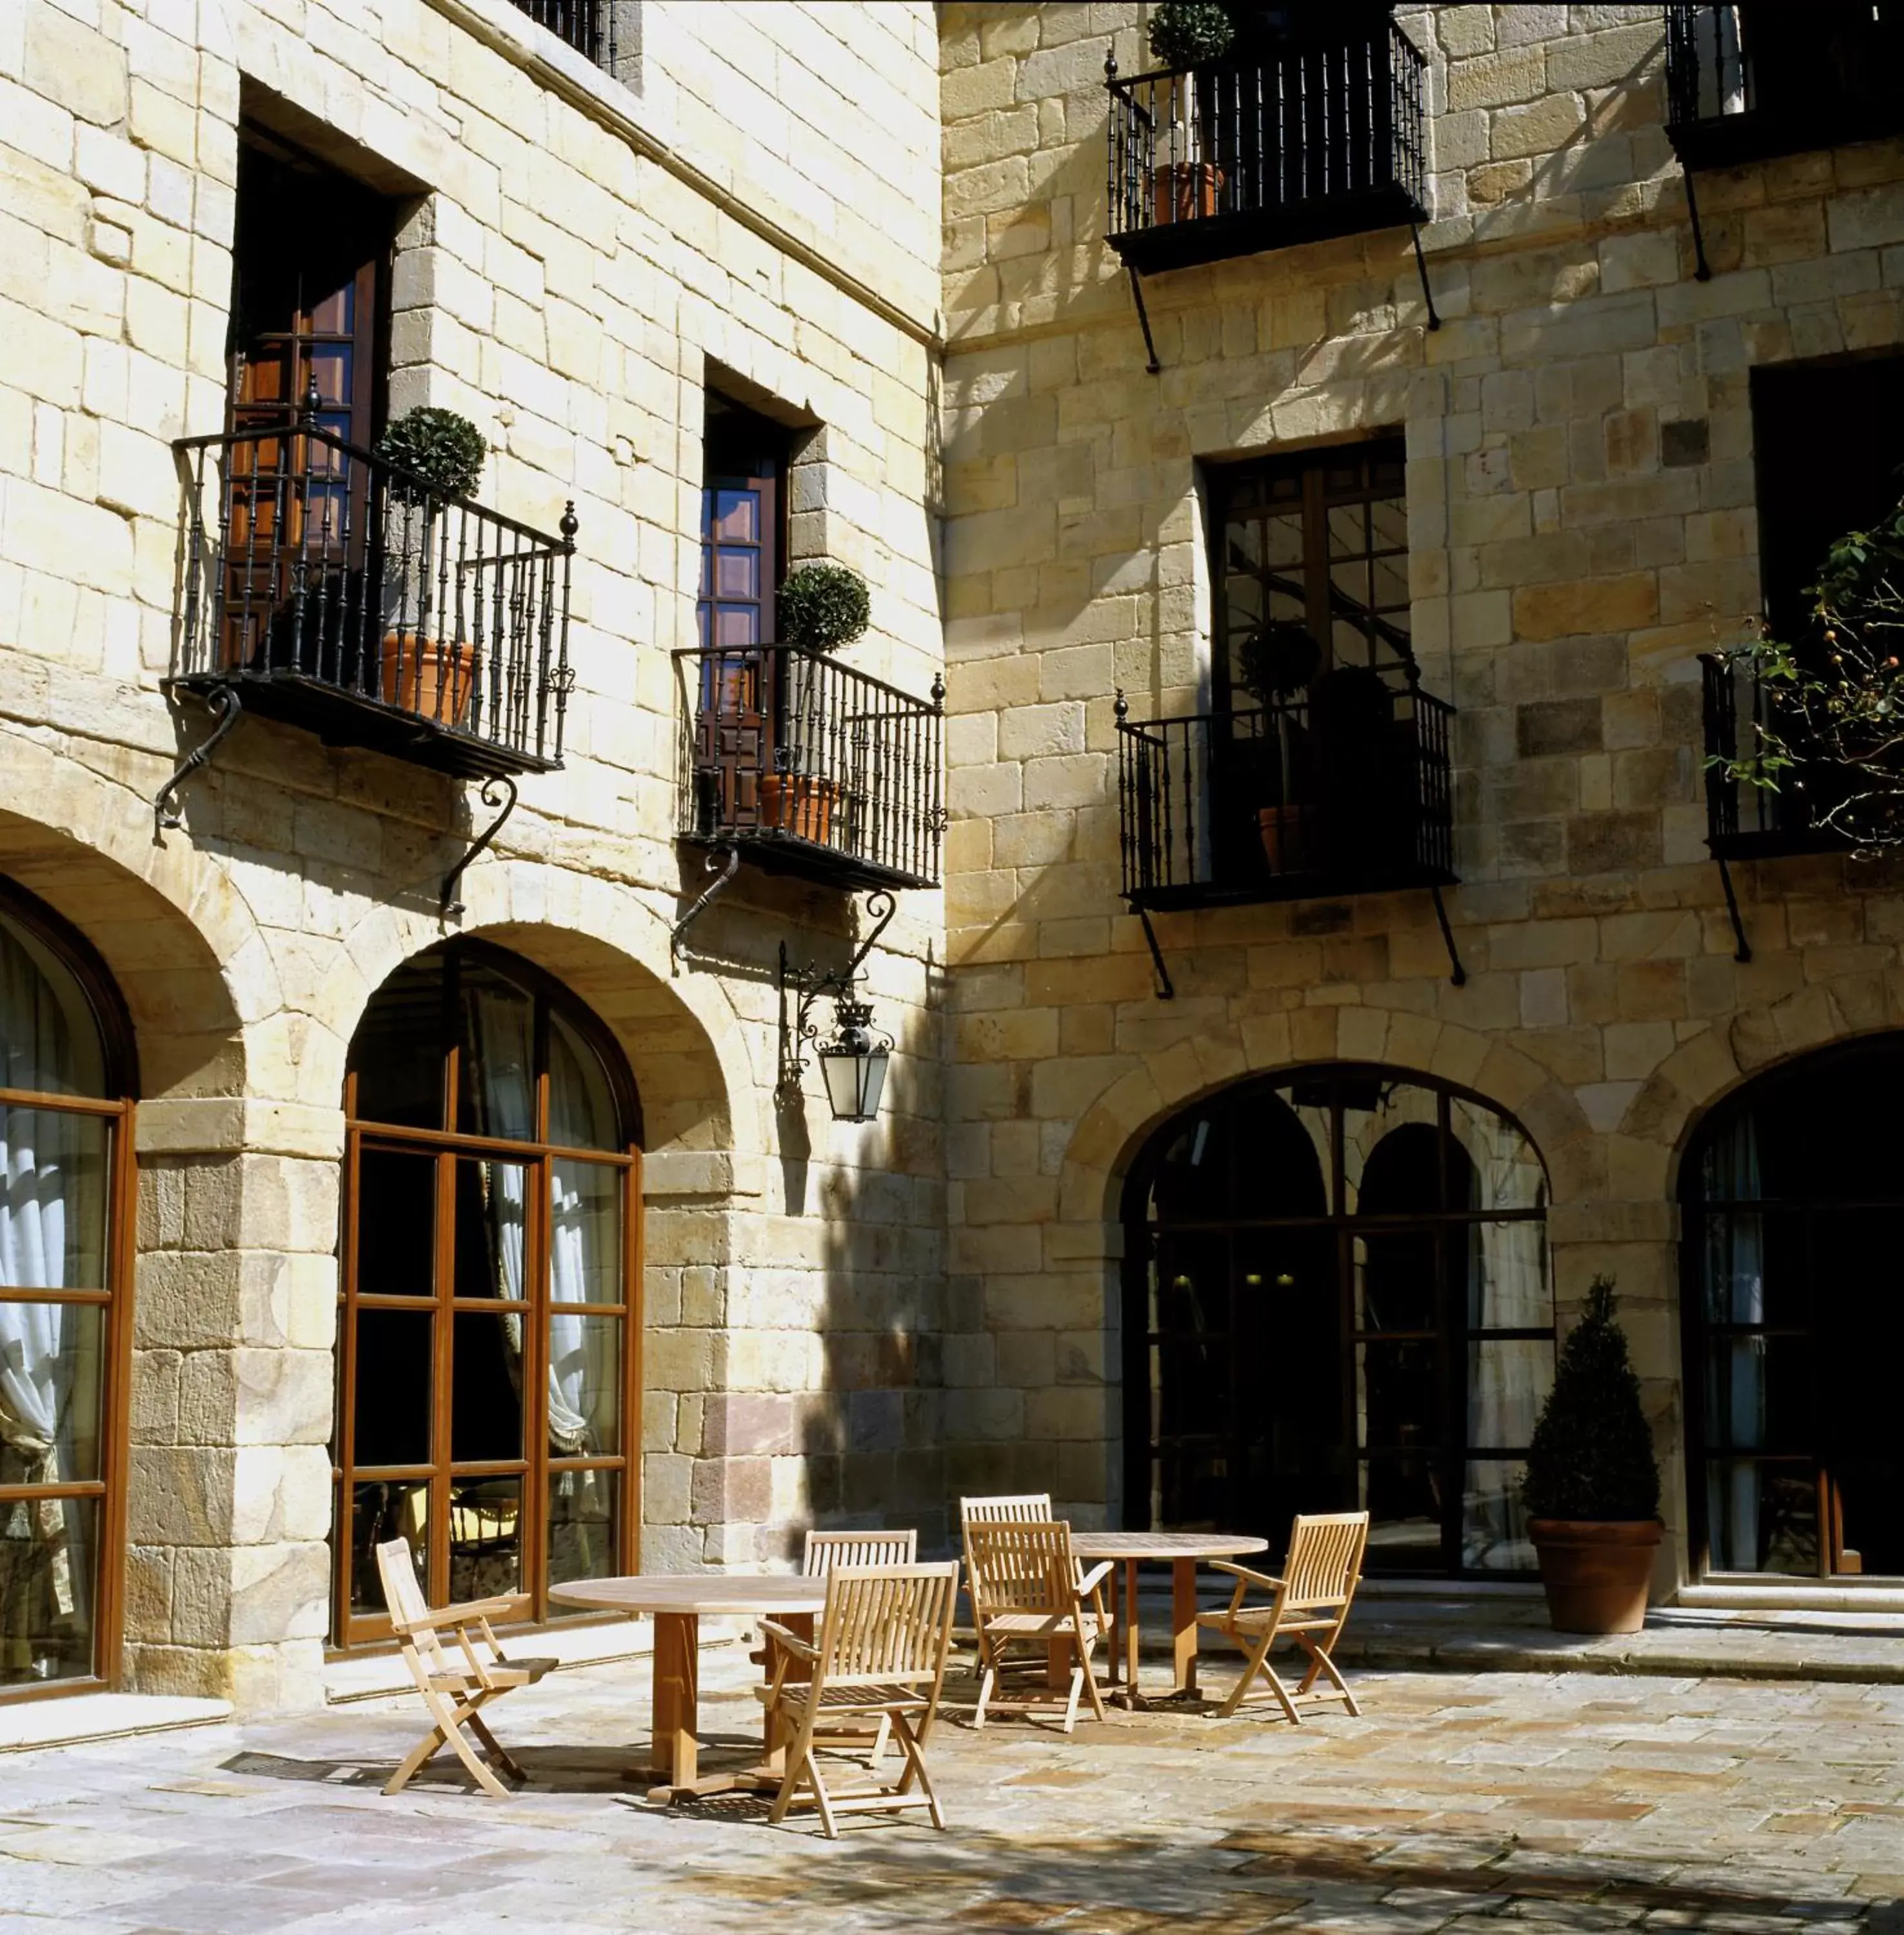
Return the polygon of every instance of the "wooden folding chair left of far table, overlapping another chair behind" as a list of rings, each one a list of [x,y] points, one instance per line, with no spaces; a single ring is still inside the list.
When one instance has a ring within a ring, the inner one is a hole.
[[[1070,1527],[1060,1519],[966,1521],[966,1583],[979,1635],[973,1726],[985,1726],[987,1707],[1037,1712],[1060,1705],[1068,1734],[1078,1724],[1080,1693],[1087,1693],[1091,1712],[1105,1718],[1091,1654],[1111,1629],[1101,1591],[1111,1567],[1105,1560],[1082,1571],[1072,1556]],[[1033,1647],[1035,1658],[1016,1658],[1012,1647]],[[1066,1654],[1068,1685],[1060,1683]],[[998,1697],[1008,1676],[1029,1682],[1020,1697]]]

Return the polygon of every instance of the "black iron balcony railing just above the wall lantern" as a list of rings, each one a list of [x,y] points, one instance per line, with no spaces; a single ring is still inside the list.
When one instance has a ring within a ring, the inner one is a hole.
[[[913,699],[822,652],[675,652],[681,836],[844,886],[937,886],[944,687]]]

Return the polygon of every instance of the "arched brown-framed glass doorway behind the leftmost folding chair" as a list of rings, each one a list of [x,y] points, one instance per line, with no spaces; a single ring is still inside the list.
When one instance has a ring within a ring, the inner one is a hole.
[[[453,940],[375,993],[350,1047],[339,1325],[337,1618],[389,1633],[373,1548],[431,1602],[631,1571],[640,1478],[640,1116],[561,983]]]

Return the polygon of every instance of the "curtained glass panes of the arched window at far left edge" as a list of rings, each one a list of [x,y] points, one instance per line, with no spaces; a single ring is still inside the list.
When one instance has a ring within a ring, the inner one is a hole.
[[[0,925],[0,1086],[64,1093],[75,1086],[72,1018],[25,944]],[[0,1109],[0,1283],[14,1291],[74,1285],[91,1248],[97,1173],[83,1161],[83,1118]],[[91,1198],[91,1200],[89,1200]],[[74,1476],[66,1304],[0,1302],[0,1474],[15,1484]],[[12,1467],[6,1471],[4,1467]],[[0,1670],[33,1672],[46,1612],[85,1623],[89,1565],[83,1513],[64,1500],[0,1513]]]

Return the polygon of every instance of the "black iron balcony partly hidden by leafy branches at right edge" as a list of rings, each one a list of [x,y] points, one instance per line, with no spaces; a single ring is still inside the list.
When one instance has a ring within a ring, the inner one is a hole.
[[[1819,817],[1846,797],[1848,774],[1829,762],[1800,760],[1778,786],[1734,778],[1726,764],[1767,749],[1767,729],[1782,745],[1803,739],[1786,689],[1767,685],[1753,666],[1703,652],[1707,757],[1707,846],[1716,859],[1770,859],[1778,853],[1830,853],[1852,842]],[[1780,716],[1782,714],[1782,716]]]

